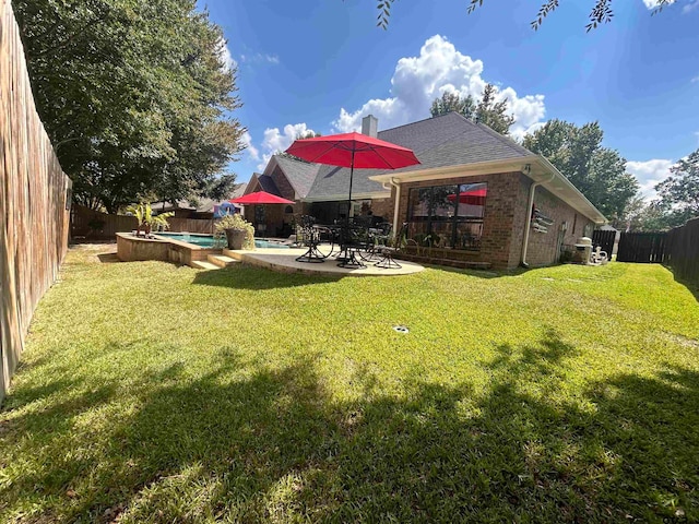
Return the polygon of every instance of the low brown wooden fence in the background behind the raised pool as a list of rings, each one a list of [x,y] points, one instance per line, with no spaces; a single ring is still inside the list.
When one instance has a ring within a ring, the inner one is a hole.
[[[169,230],[175,233],[186,231],[211,235],[214,228],[213,219],[171,217],[167,219],[167,223],[170,225]],[[73,205],[71,236],[74,239],[114,240],[117,233],[132,231],[135,226],[137,219],[133,216],[108,215],[82,205]]]

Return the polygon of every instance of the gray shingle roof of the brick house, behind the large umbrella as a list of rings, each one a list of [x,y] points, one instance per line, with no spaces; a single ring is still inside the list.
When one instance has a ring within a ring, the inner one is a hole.
[[[455,112],[379,131],[378,138],[403,147],[410,147],[420,164],[395,171],[355,169],[352,184],[353,194],[386,191],[379,182],[368,179],[375,175],[507,160],[533,154],[513,140],[496,133],[487,126],[474,123]],[[309,166],[309,164],[305,165]],[[286,174],[286,169],[284,172]],[[310,174],[310,169],[306,172]],[[324,196],[346,194],[348,190],[348,168],[320,165],[313,184],[306,196],[319,200]]]

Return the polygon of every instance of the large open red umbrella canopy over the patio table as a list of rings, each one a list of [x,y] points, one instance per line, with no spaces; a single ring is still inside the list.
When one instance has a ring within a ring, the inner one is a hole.
[[[353,169],[399,169],[419,164],[407,147],[356,132],[297,140],[286,153],[317,164]]]

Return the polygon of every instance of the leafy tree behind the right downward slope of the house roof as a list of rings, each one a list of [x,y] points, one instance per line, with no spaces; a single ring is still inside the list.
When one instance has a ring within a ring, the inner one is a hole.
[[[611,221],[625,216],[639,184],[626,172],[626,159],[602,146],[604,132],[597,122],[578,127],[550,120],[524,136],[523,145],[550,160],[595,207]]]

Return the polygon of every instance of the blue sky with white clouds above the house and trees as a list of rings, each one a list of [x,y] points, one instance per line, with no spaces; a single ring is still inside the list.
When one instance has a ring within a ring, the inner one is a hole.
[[[238,180],[262,170],[298,132],[379,129],[429,117],[443,91],[507,96],[521,136],[548,119],[599,120],[604,144],[628,160],[647,194],[699,146],[699,0],[651,16],[654,0],[614,2],[591,33],[593,0],[561,2],[534,32],[538,1],[410,0],[393,4],[388,31],[375,0],[206,0],[237,66],[248,150]],[[503,8],[507,5],[507,8]]]

